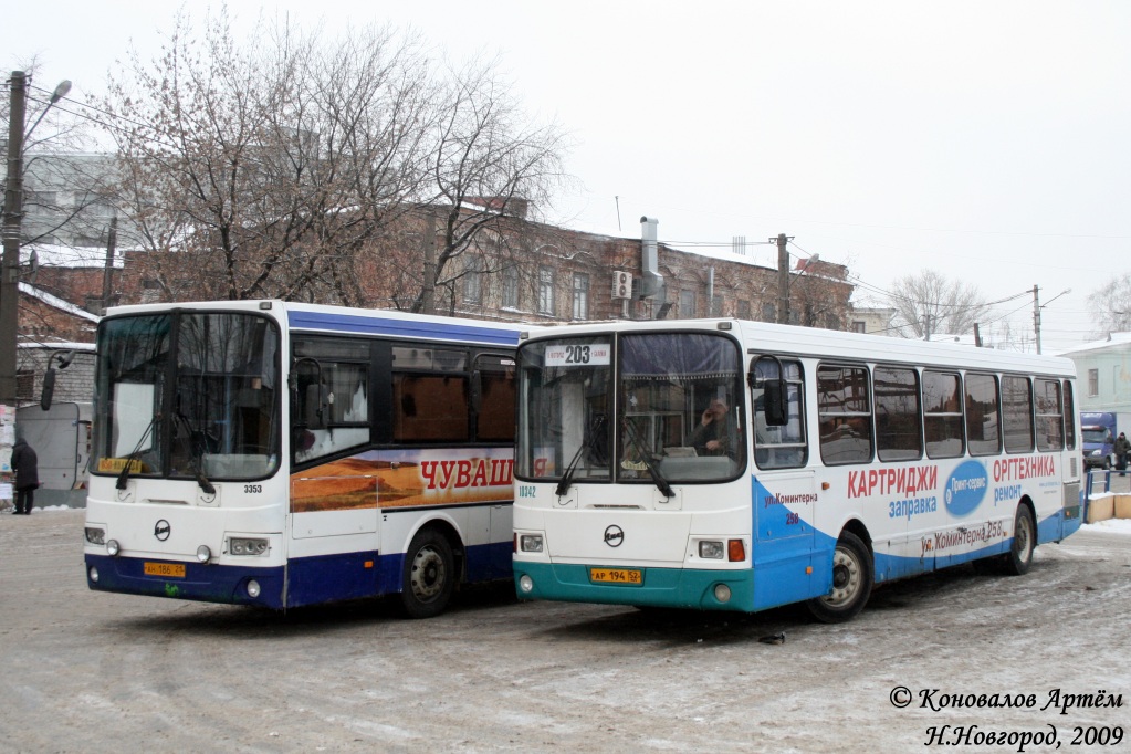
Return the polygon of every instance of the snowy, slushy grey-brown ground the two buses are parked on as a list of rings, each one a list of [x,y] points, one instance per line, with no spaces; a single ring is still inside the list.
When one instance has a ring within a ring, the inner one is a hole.
[[[1126,528],[1044,545],[1022,578],[891,584],[827,626],[517,604],[506,587],[425,622],[94,593],[81,526],[0,517],[0,751],[1010,752],[987,736],[1055,730],[1061,751],[1131,752]],[[1122,707],[1061,714],[1068,694]]]

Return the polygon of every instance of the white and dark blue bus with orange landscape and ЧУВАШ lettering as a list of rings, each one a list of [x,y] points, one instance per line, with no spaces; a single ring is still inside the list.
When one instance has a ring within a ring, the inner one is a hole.
[[[90,589],[440,613],[511,574],[516,326],[280,301],[98,326]]]

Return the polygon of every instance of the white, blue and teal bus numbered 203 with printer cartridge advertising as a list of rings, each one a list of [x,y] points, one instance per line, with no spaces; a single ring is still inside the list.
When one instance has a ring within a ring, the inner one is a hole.
[[[525,599],[838,622],[1080,526],[1064,358],[693,320],[547,328],[518,362]]]

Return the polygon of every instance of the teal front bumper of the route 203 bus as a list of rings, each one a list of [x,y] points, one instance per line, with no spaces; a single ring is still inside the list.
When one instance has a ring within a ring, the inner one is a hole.
[[[640,584],[606,584],[590,581],[589,567],[589,565],[516,562],[515,588],[519,599],[709,610],[753,609],[753,573],[749,570],[632,569],[642,573]],[[529,577],[534,584],[530,591],[523,591],[524,575]],[[728,600],[720,601],[715,596],[717,584],[726,584],[729,588]]]

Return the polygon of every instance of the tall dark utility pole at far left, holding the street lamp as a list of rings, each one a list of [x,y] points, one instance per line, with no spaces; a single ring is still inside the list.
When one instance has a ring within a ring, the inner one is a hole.
[[[19,304],[19,235],[24,208],[24,119],[27,76],[12,71],[8,116],[8,182],[3,197],[3,259],[0,261],[0,406],[16,411],[16,330]]]

